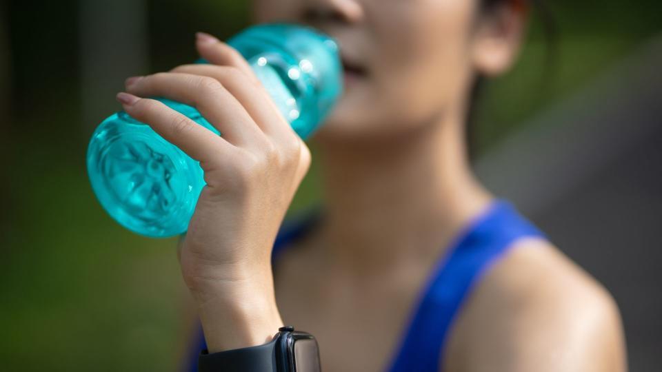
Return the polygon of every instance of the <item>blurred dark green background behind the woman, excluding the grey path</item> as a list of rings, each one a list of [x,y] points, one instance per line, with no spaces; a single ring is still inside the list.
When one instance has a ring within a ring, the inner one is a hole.
[[[662,30],[658,1],[549,3],[557,29],[552,63],[546,62],[549,44],[534,18],[516,68],[490,82],[481,99],[478,154]],[[185,290],[175,240],[143,238],[115,224],[95,200],[84,168],[88,138],[99,121],[119,109],[113,94],[123,85],[117,79],[108,96],[91,96],[84,80],[91,75],[94,81],[95,75],[86,63],[134,58],[121,54],[123,43],[134,40],[121,37],[97,47],[107,54],[86,57],[86,45],[95,43],[88,28],[98,33],[112,19],[104,17],[108,5],[103,4],[0,4],[3,371],[177,370]],[[196,31],[226,38],[248,25],[248,1],[114,4],[119,21],[108,30],[121,34],[126,26],[121,14],[135,10],[145,35],[146,63],[129,74],[193,61]],[[97,106],[86,109],[90,100]],[[315,203],[317,195],[313,166],[292,208]]]

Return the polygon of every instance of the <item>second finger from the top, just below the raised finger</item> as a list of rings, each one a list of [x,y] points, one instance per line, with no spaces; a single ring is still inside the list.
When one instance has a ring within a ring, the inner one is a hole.
[[[274,138],[289,138],[296,135],[263,87],[246,81],[245,76],[237,68],[217,65],[181,65],[174,68],[172,72],[210,76],[218,80],[243,105],[246,112],[265,134]]]

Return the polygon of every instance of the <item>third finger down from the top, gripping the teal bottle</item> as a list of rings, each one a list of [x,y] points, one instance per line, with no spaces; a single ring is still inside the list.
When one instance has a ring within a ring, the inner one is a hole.
[[[233,145],[261,145],[259,138],[265,137],[241,103],[212,77],[161,72],[128,79],[126,85],[137,96],[163,96],[196,107]]]

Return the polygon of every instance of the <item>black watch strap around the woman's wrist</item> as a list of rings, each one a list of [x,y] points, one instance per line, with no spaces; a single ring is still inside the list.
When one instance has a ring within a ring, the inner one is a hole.
[[[276,372],[275,337],[266,344],[208,353],[203,350],[198,358],[199,372]]]

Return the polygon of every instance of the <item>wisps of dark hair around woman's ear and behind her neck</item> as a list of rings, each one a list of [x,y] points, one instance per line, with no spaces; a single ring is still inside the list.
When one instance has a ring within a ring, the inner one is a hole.
[[[481,0],[481,7],[483,12],[490,12],[498,6],[502,6],[504,3],[516,0]],[[547,53],[545,56],[545,67],[549,68],[553,65],[553,57],[555,55],[554,49],[556,49],[556,24],[554,23],[554,17],[552,12],[548,8],[545,0],[519,0],[530,3],[533,10],[536,12],[536,16],[541,21],[541,26],[543,28],[543,34],[545,37],[545,42],[547,43]],[[543,76],[551,76],[551,74],[545,74]],[[485,87],[485,82],[487,79],[485,76],[477,76],[474,80],[472,89],[469,96],[469,107],[465,125],[465,141],[468,145],[469,158],[473,160],[477,153],[476,148],[476,130],[477,123],[476,111],[477,103],[481,98],[481,93]],[[545,82],[546,83],[546,82]]]

